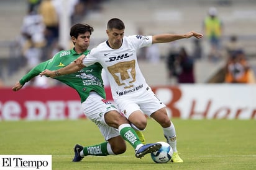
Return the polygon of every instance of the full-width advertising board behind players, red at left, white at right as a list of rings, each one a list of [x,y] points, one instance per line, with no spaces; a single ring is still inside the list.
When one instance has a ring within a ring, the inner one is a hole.
[[[106,88],[107,100],[112,101]],[[170,117],[256,119],[255,85],[179,85],[152,87]],[[70,87],[0,88],[0,121],[85,118],[78,93]]]

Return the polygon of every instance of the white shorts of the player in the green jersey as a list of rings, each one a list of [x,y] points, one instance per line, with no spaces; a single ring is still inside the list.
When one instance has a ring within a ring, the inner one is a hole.
[[[98,95],[98,93],[91,91],[88,98],[82,103],[83,113],[96,125],[98,125],[101,134],[103,134],[105,140],[109,138],[117,137],[119,130],[110,127],[106,124],[104,115],[112,110],[118,111],[113,104]]]

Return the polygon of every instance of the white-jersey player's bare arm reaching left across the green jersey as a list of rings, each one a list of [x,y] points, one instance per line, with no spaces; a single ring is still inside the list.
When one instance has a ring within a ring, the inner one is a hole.
[[[58,70],[43,70],[40,73],[40,76],[46,75],[46,76],[49,76],[49,77],[53,78],[53,77],[60,76],[60,75],[66,75],[66,74],[71,74],[71,73],[78,72],[79,70],[83,69],[83,67],[85,67],[83,64],[82,65],[77,65],[75,62],[72,62],[68,66],[63,67],[63,68],[58,69]]]

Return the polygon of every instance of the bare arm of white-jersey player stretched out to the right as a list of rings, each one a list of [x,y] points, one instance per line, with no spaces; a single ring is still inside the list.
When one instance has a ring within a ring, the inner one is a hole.
[[[185,33],[185,34],[159,34],[159,35],[153,35],[152,36],[152,44],[154,43],[168,43],[175,40],[180,40],[183,38],[190,38],[191,36],[194,36],[196,38],[203,38],[203,34],[197,33],[194,31]]]

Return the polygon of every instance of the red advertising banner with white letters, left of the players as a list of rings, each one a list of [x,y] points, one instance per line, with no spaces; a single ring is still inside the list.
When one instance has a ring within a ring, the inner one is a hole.
[[[69,87],[0,88],[0,120],[78,119],[85,117],[78,93]]]

